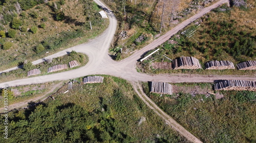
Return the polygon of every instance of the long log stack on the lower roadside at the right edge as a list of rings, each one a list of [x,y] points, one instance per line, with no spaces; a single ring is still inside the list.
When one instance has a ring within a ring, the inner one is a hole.
[[[256,81],[224,80],[214,84],[215,90],[256,91]]]

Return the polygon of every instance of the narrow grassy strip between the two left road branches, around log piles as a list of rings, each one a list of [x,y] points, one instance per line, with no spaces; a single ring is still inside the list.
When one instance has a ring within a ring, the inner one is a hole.
[[[74,51],[73,51],[73,53],[74,54],[63,55],[63,56],[60,56],[58,58],[54,58],[54,59],[52,59],[51,62],[44,62],[44,63],[40,63],[38,65],[30,66],[30,70],[36,68],[36,69],[39,69],[41,71],[41,73],[37,74],[37,75],[29,76],[29,77],[47,75],[47,74],[53,74],[53,73],[73,70],[73,69],[80,68],[80,67],[82,67],[82,66],[84,66],[88,63],[89,58],[88,58],[87,55],[82,54],[82,53],[76,53]],[[73,60],[78,61],[78,63],[80,65],[77,66],[77,67],[74,67],[74,68],[70,68],[69,67],[69,62],[73,61]],[[52,66],[55,66],[55,65],[62,65],[62,64],[67,64],[69,68],[65,69],[65,70],[61,70],[61,71],[47,73],[47,69],[49,67],[52,67]],[[6,81],[21,79],[21,78],[28,78],[27,72],[28,72],[28,70],[25,70],[25,69],[17,69],[17,70],[12,70],[12,71],[9,71],[9,72],[6,72],[6,73],[2,73],[0,75],[0,82],[6,82]]]

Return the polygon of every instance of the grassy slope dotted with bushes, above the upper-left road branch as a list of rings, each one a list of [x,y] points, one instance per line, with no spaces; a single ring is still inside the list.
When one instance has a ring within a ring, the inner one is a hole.
[[[32,3],[33,1],[33,3]],[[102,19],[98,13],[100,9],[92,1],[90,14],[87,18],[81,1],[31,0],[29,3],[19,1],[22,11],[17,12],[16,1],[6,1],[0,5],[3,15],[0,18],[0,70],[15,67],[25,60],[34,61],[68,47],[87,42],[88,39],[98,36],[109,24],[108,19]],[[9,11],[15,11],[8,13]],[[93,30],[90,29],[89,20]],[[33,27],[33,28],[32,28]],[[35,32],[32,30],[36,29]],[[13,35],[10,35],[14,32]],[[42,45],[40,49],[37,49]]]

